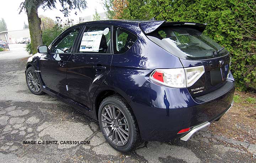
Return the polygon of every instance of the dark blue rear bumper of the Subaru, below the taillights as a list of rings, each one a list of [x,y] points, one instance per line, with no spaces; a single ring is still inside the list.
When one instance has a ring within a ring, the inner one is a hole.
[[[182,138],[188,132],[177,134],[181,129],[194,129],[221,117],[230,108],[235,91],[234,81],[229,79],[227,82],[232,85],[223,94],[215,92],[215,97],[203,102],[194,100],[187,88],[170,88],[146,81],[130,102],[142,139],[169,141]]]

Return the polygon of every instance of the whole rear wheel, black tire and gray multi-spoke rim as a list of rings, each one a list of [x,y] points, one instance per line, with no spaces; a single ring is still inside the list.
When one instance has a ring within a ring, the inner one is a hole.
[[[103,136],[117,151],[128,152],[140,143],[136,118],[122,97],[105,98],[100,104],[98,120]]]

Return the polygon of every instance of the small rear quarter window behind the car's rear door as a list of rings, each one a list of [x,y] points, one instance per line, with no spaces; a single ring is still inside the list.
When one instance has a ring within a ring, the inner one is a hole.
[[[137,40],[137,36],[120,27],[114,27],[114,33],[116,44],[116,48],[114,48],[114,54],[125,53]]]

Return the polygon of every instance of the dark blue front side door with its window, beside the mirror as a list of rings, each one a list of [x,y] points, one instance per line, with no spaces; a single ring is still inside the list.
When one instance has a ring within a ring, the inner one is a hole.
[[[80,28],[70,29],[60,36],[51,46],[49,52],[40,59],[40,70],[44,85],[63,96],[66,91],[67,61],[71,56],[73,44]]]

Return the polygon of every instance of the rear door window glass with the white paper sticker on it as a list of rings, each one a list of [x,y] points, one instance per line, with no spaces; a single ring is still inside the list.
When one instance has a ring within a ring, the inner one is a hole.
[[[86,27],[77,53],[111,53],[111,27]]]

